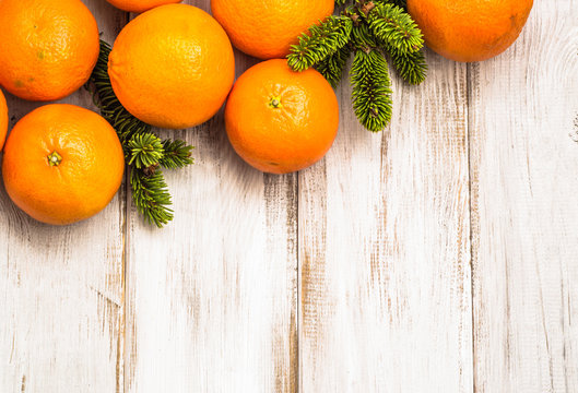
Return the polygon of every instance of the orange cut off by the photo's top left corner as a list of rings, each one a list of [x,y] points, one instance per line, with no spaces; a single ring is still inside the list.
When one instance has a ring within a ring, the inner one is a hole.
[[[63,98],[96,64],[98,27],[80,0],[2,0],[0,26],[0,85],[21,98]]]

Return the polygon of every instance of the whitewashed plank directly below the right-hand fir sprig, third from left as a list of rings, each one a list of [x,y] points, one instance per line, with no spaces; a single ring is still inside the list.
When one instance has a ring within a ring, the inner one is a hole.
[[[394,81],[384,133],[342,126],[299,176],[303,392],[471,392],[465,66]]]

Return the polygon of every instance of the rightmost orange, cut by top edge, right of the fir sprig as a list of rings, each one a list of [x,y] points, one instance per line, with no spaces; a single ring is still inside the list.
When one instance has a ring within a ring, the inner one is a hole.
[[[482,61],[520,35],[533,0],[408,0],[429,48],[456,61]]]

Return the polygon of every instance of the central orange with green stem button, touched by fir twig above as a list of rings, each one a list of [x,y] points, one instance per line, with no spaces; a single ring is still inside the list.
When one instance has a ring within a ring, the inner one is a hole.
[[[233,147],[248,164],[267,172],[292,172],[321,159],[333,144],[338,98],[319,72],[297,73],[286,60],[269,60],[235,83],[225,124]]]

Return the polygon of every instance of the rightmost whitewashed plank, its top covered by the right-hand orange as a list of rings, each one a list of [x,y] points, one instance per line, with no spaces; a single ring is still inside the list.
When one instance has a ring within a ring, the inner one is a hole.
[[[578,2],[470,67],[476,392],[578,392]]]

